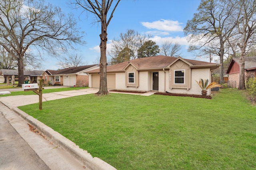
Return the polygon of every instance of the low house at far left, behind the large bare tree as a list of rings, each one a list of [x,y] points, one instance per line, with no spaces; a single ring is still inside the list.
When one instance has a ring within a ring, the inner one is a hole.
[[[37,83],[41,79],[42,70],[24,70],[24,80],[29,80],[30,83]],[[1,69],[0,75],[4,76],[4,82],[10,84],[12,76],[18,81],[18,70]]]

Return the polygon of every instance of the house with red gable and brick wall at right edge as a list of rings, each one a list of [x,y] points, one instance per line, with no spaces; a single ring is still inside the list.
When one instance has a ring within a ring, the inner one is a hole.
[[[254,78],[256,72],[256,57],[245,57],[244,76],[245,80]],[[227,74],[228,80],[236,82],[235,87],[239,86],[240,58],[232,58],[229,63]]]

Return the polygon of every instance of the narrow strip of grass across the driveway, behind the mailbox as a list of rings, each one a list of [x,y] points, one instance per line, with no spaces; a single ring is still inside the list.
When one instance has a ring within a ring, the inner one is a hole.
[[[43,87],[44,88],[44,87]],[[68,91],[68,90],[80,90],[80,89],[85,89],[88,87],[69,87],[69,88],[53,88],[53,89],[44,89],[42,90],[42,94],[45,93],[53,93],[53,92],[64,92],[64,91]],[[8,91],[8,90],[7,90]],[[35,94],[33,91],[28,91],[28,92],[24,92],[24,91],[18,91],[18,92],[11,92],[11,94],[4,94],[4,95],[0,95],[0,97],[5,97],[5,96],[18,96],[18,95],[37,95]]]

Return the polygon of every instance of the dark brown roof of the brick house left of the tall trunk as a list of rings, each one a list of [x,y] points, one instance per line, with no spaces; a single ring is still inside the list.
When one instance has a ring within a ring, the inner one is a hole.
[[[92,68],[98,66],[99,64],[93,65],[86,65],[86,66],[77,66],[77,67],[70,67],[70,68],[63,68],[60,70],[46,70],[49,72],[49,75],[59,75],[59,74],[79,74],[80,72],[84,72],[88,68]]]

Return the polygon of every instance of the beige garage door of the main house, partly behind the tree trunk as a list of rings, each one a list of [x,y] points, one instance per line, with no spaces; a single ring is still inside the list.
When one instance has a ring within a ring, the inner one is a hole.
[[[108,89],[116,89],[116,74],[107,74],[107,86]],[[92,75],[92,88],[100,87],[100,75]]]

